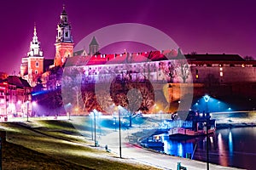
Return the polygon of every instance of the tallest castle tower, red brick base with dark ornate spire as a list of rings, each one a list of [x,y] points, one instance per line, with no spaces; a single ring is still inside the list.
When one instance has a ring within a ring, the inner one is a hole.
[[[71,26],[68,23],[68,16],[63,5],[61,21],[57,26],[57,36],[55,42],[55,66],[65,64],[68,57],[73,56],[73,37],[71,35]]]

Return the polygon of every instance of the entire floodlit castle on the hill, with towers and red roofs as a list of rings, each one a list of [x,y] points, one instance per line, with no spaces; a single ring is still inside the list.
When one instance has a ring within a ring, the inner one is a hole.
[[[185,54],[190,75],[180,75],[179,65],[173,65],[177,61],[179,49],[150,51],[142,53],[101,54],[96,37],[92,37],[89,44],[89,53],[85,50],[73,52],[74,42],[71,26],[65,6],[60,15],[55,39],[55,59],[45,59],[43,50],[38,40],[38,32],[34,26],[32,42],[26,57],[22,58],[20,65],[20,77],[27,80],[32,87],[42,82],[44,88],[55,89],[61,86],[61,73],[63,67],[70,59],[76,62],[77,67],[83,70],[86,81],[99,82],[101,68],[118,69],[135,79],[138,73],[148,71],[148,76],[155,82],[198,82],[198,83],[233,83],[255,82],[256,62],[242,59],[238,54]],[[79,60],[79,62],[78,62]],[[86,63],[86,65],[82,65]],[[123,65],[131,65],[133,69],[124,70]],[[147,65],[147,69],[143,68]],[[148,66],[150,65],[150,66]],[[150,68],[149,68],[150,67]],[[174,69],[175,68],[175,69]],[[184,67],[185,68],[185,67]],[[105,76],[106,77],[106,76]],[[188,81],[187,81],[188,80]]]

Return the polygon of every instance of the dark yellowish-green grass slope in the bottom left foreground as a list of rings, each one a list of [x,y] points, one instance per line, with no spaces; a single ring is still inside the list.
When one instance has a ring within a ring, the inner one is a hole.
[[[156,169],[90,147],[67,121],[0,123],[3,169]],[[76,134],[76,135],[73,135]]]

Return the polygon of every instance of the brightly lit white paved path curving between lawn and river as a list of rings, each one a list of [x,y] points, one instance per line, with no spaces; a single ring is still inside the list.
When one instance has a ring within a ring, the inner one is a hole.
[[[159,167],[161,169],[177,169],[177,162],[181,162],[183,167],[187,167],[189,170],[201,170],[207,169],[207,163],[202,161],[189,160],[176,156],[167,156],[160,153],[155,153],[153,151],[145,150],[142,147],[134,144],[129,144],[128,139],[126,138],[131,131],[124,131],[121,133],[122,136],[122,157],[130,158],[135,161],[148,164],[153,167]],[[112,152],[119,155],[119,131],[109,133],[106,136],[103,136],[101,139],[98,139],[99,144],[105,146],[108,144],[108,149]],[[222,167],[214,164],[210,164],[210,169],[238,169],[234,167]]]

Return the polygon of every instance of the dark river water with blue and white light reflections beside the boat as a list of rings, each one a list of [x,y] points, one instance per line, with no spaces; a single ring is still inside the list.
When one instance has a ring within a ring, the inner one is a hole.
[[[160,150],[173,156],[207,161],[207,141],[205,137],[177,141],[163,138],[164,147]],[[256,127],[219,129],[210,136],[209,161],[225,167],[256,169]],[[254,166],[255,165],[255,166]]]

